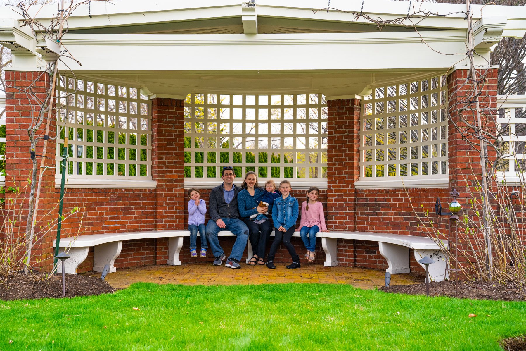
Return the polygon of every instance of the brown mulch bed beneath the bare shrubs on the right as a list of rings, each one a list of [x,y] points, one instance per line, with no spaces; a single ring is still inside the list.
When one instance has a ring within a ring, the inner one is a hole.
[[[389,287],[382,286],[379,289],[386,293],[426,295],[426,284],[391,285]],[[429,283],[429,296],[526,301],[526,286],[519,286],[514,283],[504,285],[498,282],[463,280],[458,282],[457,293],[455,282],[444,280],[443,282]]]

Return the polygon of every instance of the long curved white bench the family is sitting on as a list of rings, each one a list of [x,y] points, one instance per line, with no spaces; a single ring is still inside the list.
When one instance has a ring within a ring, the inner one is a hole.
[[[199,235],[199,233],[197,234]],[[274,232],[271,233],[274,236]],[[76,238],[60,238],[60,252],[69,250],[71,258],[65,263],[65,273],[77,274],[77,267],[84,262],[88,256],[89,247],[95,247],[94,267],[95,272],[102,272],[105,265],[109,265],[110,273],[116,271],[115,259],[119,256],[122,249],[123,240],[149,239],[149,238],[168,238],[168,261],[169,265],[178,266],[181,264],[179,253],[183,247],[183,238],[190,236],[188,230],[154,230],[151,232],[133,232],[116,234],[92,234],[81,235]],[[222,230],[218,236],[234,236],[227,230]],[[299,232],[295,232],[295,237],[299,237]],[[446,272],[447,255],[444,250],[448,249],[447,240],[440,243],[434,242],[431,238],[387,233],[372,232],[328,232],[316,234],[321,239],[321,247],[325,252],[325,262],[323,265],[332,267],[338,265],[337,259],[337,239],[366,240],[378,242],[380,254],[387,260],[388,268],[386,272],[391,274],[409,273],[409,248],[414,250],[414,258],[417,262],[424,256],[431,257],[436,263],[429,266],[430,278],[440,282],[449,275]],[[247,256],[252,257],[252,247],[250,241],[247,243]],[[53,241],[56,246],[56,240]],[[247,262],[248,262],[247,257]],[[423,265],[421,265],[424,267]],[[425,268],[425,267],[424,267]],[[62,272],[60,265],[59,273]]]

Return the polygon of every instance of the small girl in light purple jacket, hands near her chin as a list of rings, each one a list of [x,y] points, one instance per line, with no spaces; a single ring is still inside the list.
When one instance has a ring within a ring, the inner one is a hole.
[[[201,200],[201,192],[196,188],[188,190],[188,230],[190,230],[190,256],[197,257],[197,230],[201,237],[201,257],[206,257],[208,242],[205,232],[205,200]]]

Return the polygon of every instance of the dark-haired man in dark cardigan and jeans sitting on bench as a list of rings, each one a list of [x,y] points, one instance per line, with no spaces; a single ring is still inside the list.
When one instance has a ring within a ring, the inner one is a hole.
[[[241,188],[234,185],[234,168],[223,167],[221,178],[223,184],[216,186],[210,192],[209,212],[210,220],[206,225],[206,238],[208,245],[214,254],[214,265],[220,266],[225,259],[225,250],[219,245],[217,233],[221,230],[230,230],[236,235],[236,242],[225,266],[230,268],[241,268],[239,261],[245,251],[248,240],[248,227],[239,219],[237,206],[237,194]]]

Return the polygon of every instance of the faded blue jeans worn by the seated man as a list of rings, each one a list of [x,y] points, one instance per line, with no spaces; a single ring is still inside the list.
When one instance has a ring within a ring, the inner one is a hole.
[[[215,220],[210,219],[206,225],[206,238],[212,249],[214,257],[219,257],[225,253],[225,250],[219,245],[217,233],[221,230],[230,230],[236,236],[236,242],[232,246],[232,252],[228,258],[235,258],[238,262],[241,261],[245,247],[248,240],[248,227],[242,220],[237,218],[221,218],[225,222],[226,228],[219,228]]]

